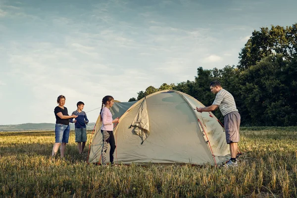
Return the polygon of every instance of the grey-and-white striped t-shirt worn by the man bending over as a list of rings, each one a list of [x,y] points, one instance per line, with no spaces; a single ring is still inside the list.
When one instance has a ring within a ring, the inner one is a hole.
[[[235,100],[233,96],[226,90],[221,89],[217,95],[215,96],[214,101],[212,102],[214,105],[219,105],[219,108],[225,116],[226,114],[232,111],[238,111],[236,108]]]

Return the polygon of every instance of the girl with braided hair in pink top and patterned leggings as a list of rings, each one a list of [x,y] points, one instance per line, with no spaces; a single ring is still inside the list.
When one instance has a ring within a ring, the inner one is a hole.
[[[112,107],[114,99],[112,96],[105,96],[102,99],[102,106],[100,111],[100,120],[102,122],[101,133],[103,139],[102,146],[102,165],[106,165],[106,150],[108,148],[108,143],[110,145],[109,159],[110,163],[113,165],[113,153],[115,150],[115,140],[113,136],[113,123],[119,122],[119,118],[112,119],[112,114],[109,110]],[[104,105],[104,107],[103,107]]]

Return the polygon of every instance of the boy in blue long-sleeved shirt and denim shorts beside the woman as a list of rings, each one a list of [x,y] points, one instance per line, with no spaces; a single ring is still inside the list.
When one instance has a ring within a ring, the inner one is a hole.
[[[73,121],[70,119],[71,123],[75,124],[75,142],[77,142],[78,152],[82,154],[87,142],[87,126],[89,123],[87,114],[84,109],[84,102],[79,101],[76,104],[77,110],[72,112],[72,115],[77,115],[77,118]]]

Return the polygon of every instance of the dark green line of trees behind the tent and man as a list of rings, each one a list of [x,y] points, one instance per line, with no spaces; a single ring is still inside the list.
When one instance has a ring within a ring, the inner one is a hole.
[[[197,68],[194,81],[149,86],[139,100],[161,90],[177,90],[211,105],[215,96],[209,83],[219,80],[236,101],[242,126],[297,125],[297,23],[254,30],[239,53],[238,65],[222,69]],[[219,110],[213,112],[223,121]]]

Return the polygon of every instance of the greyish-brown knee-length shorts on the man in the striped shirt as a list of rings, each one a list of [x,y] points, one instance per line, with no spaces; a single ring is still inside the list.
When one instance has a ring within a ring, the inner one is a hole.
[[[237,111],[233,111],[225,115],[224,125],[227,144],[239,142],[240,119],[240,114]]]

